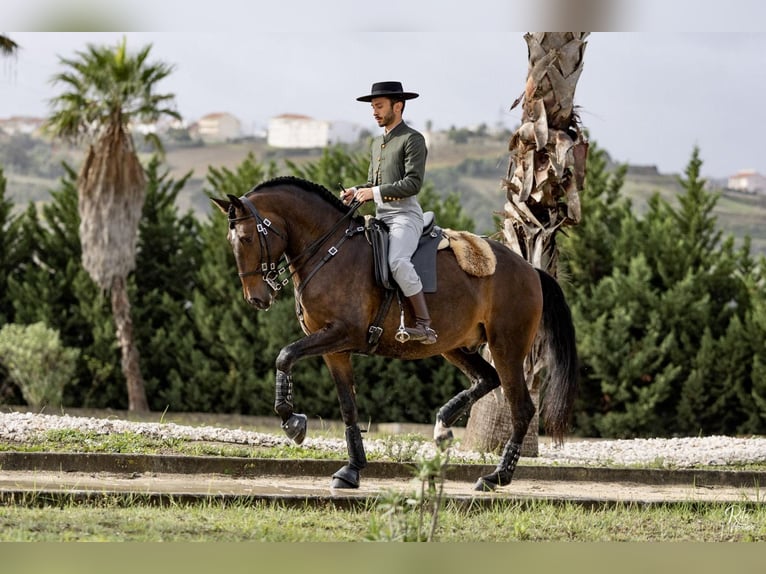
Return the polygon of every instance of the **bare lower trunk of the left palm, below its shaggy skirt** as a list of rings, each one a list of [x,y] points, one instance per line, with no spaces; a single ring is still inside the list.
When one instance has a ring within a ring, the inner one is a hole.
[[[122,372],[128,387],[128,410],[146,412],[149,410],[149,402],[146,400],[144,379],[141,376],[138,348],[133,339],[133,320],[124,277],[114,278],[111,295],[117,343],[122,352]]]

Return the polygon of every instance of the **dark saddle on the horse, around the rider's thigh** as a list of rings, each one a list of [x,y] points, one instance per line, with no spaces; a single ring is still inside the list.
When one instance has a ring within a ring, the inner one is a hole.
[[[375,282],[383,289],[396,290],[397,286],[388,266],[388,226],[380,219],[367,216],[364,227],[367,241],[372,245]],[[434,222],[434,212],[426,211],[423,213],[423,233],[412,256],[412,264],[426,293],[436,292],[436,251],[441,240],[442,229]]]

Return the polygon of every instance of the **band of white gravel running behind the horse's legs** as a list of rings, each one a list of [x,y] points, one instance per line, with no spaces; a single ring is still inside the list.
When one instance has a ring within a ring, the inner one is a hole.
[[[73,429],[97,434],[131,432],[155,439],[186,441],[213,441],[245,446],[278,446],[292,444],[286,437],[275,434],[219,428],[214,426],[187,426],[176,423],[143,423],[118,419],[78,416],[55,416],[33,413],[0,413],[0,441],[38,442],[49,430]],[[310,433],[310,429],[309,429]],[[341,439],[306,438],[304,446],[337,452],[346,456],[345,441]],[[368,452],[386,454],[396,448],[395,441],[365,439]],[[415,445],[409,454],[429,456],[433,445],[424,442]],[[413,445],[406,447],[412,449]],[[562,447],[554,447],[541,440],[540,456],[536,462],[546,464],[652,464],[658,467],[690,468],[700,465],[726,466],[746,463],[766,463],[766,438],[735,438],[728,436],[633,439],[633,440],[576,440]],[[478,453],[459,451],[464,462],[494,464],[496,458]]]

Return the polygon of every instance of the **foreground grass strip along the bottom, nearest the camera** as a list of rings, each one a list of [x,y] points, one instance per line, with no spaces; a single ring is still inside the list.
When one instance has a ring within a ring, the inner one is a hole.
[[[34,502],[34,501],[30,501]],[[166,507],[118,501],[0,506],[0,541],[354,542],[377,540],[383,510],[289,508],[209,502]],[[737,504],[577,504],[502,501],[490,508],[448,502],[437,542],[766,541],[766,507]]]

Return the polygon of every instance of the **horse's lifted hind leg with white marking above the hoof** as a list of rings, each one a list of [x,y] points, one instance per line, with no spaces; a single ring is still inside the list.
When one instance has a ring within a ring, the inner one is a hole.
[[[452,440],[450,427],[464,416],[476,401],[500,386],[497,371],[480,354],[455,349],[444,353],[444,358],[468,377],[471,386],[452,397],[436,413],[434,441],[440,447],[446,446]]]

